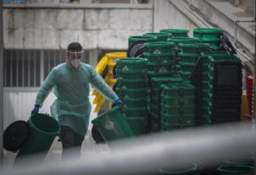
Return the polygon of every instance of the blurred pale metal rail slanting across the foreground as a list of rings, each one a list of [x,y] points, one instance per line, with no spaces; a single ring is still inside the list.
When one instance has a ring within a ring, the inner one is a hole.
[[[22,161],[20,168],[3,170],[2,175],[100,175],[149,174],[160,167],[177,167],[179,161],[217,166],[226,158],[252,155],[256,148],[256,129],[241,123],[225,126],[201,127],[179,132],[159,133],[117,143],[108,143],[109,154],[84,155],[81,159],[47,161],[32,166],[33,160]]]

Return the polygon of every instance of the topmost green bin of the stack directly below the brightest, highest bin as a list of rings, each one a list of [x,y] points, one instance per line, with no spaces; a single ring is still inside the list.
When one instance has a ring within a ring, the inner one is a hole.
[[[199,55],[206,51],[210,45],[208,43],[179,43],[177,48],[183,54]]]

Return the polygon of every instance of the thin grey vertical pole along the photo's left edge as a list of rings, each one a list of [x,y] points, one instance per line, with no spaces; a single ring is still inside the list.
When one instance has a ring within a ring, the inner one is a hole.
[[[0,167],[3,166],[3,1],[0,1]]]

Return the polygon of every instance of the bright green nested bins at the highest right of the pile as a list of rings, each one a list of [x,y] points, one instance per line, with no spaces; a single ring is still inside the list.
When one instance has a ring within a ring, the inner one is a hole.
[[[196,28],[193,30],[193,37],[199,42],[209,43],[210,47],[217,51],[221,47],[221,38],[223,31],[218,28]]]

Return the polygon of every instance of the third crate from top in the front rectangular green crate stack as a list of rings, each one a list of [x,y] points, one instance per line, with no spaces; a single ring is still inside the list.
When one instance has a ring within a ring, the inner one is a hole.
[[[195,104],[194,105],[172,105],[161,104],[161,113],[166,116],[180,116],[180,115],[195,115]]]

